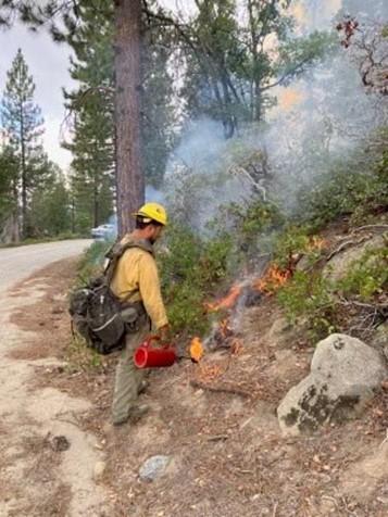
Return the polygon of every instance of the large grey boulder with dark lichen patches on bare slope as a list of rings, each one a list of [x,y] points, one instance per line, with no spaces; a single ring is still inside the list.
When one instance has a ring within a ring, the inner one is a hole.
[[[355,417],[387,375],[378,352],[359,339],[334,333],[316,345],[311,373],[277,408],[284,434]]]

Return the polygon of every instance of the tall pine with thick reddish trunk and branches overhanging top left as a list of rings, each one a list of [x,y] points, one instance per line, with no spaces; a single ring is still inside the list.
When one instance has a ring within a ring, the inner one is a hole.
[[[11,25],[15,14],[35,29],[49,26],[57,41],[64,41],[79,29],[79,13],[91,8],[107,14],[104,0],[7,0],[0,3],[0,24]],[[134,227],[130,216],[145,199],[140,139],[140,47],[141,0],[110,2],[114,20],[115,49],[115,149],[118,231]],[[99,27],[95,26],[99,29]]]

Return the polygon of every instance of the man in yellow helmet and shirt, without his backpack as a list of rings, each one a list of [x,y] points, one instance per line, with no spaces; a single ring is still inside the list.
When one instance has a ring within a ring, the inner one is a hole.
[[[145,371],[134,364],[135,349],[150,333],[151,326],[162,340],[168,335],[168,320],[153,255],[153,244],[167,224],[167,214],[159,203],[146,203],[134,216],[136,228],[122,242],[130,241],[136,248],[124,252],[111,283],[112,291],[123,302],[123,306],[129,302],[139,307],[137,330],[126,335],[125,349],[116,368],[112,407],[112,423],[115,426],[129,418],[137,419],[148,412],[147,405],[137,404],[138,394],[147,382]]]

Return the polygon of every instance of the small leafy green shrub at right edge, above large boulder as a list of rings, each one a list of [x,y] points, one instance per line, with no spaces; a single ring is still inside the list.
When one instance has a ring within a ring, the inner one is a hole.
[[[350,265],[338,289],[346,295],[355,295],[370,302],[375,295],[387,292],[388,247],[367,250],[363,256]]]

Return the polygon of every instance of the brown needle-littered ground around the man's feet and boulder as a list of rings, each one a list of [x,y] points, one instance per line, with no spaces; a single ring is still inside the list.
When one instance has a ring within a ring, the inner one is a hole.
[[[271,298],[241,312],[234,353],[151,371],[140,395],[150,413],[110,426],[117,357],[82,367],[68,353],[75,267],[54,263],[10,293],[20,340],[8,375],[29,373],[0,395],[18,415],[0,423],[0,516],[388,515],[388,391],[358,420],[284,438],[276,407],[314,350]],[[139,468],[161,454],[164,475],[142,481]]]

